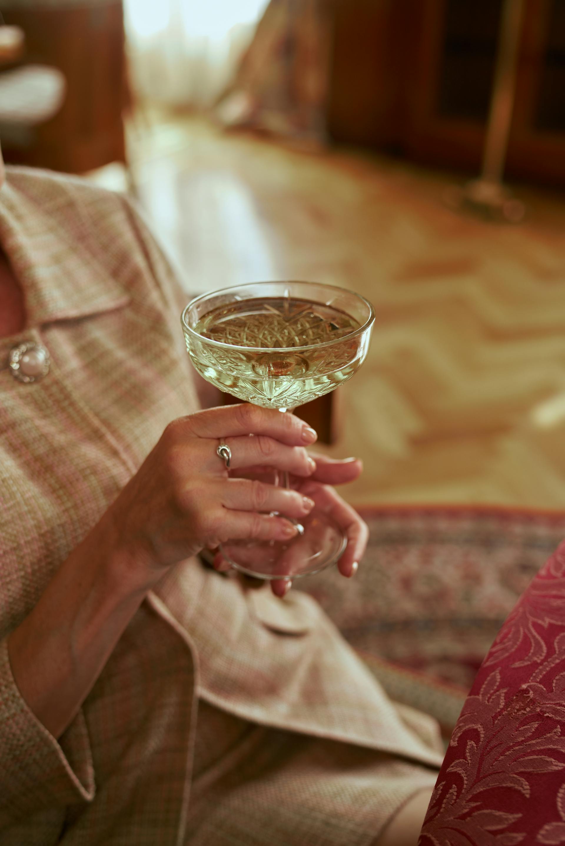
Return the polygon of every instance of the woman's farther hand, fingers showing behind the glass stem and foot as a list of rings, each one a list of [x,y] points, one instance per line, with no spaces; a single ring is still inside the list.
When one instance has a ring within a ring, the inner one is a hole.
[[[317,507],[330,515],[341,526],[347,536],[347,547],[340,558],[338,569],[347,578],[357,572],[358,562],[363,557],[368,541],[368,528],[357,511],[341,499],[333,485],[343,485],[354,481],[361,475],[363,464],[359,459],[336,460],[323,455],[312,456],[316,461],[316,469],[306,479],[299,475],[291,475],[291,487],[302,496],[313,499]],[[249,467],[245,475],[263,475],[264,466]],[[234,471],[234,475],[235,475]],[[302,539],[297,539],[291,546],[291,555],[301,556],[309,550],[302,548]],[[220,552],[214,558],[215,569],[225,571],[230,569]],[[289,569],[292,569],[289,566]],[[280,579],[270,582],[275,596],[285,596],[291,587],[291,580]]]

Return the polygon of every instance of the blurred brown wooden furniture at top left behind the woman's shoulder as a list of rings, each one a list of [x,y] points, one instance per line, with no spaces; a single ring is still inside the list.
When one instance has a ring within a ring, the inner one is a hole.
[[[25,144],[3,144],[8,162],[85,173],[125,162],[124,14],[108,3],[22,4],[4,11],[25,32],[25,63],[60,69],[67,82],[61,110],[33,129]]]

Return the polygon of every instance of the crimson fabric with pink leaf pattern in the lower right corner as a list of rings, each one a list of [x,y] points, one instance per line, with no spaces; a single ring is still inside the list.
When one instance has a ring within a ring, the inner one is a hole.
[[[418,843],[565,843],[565,543],[479,669]]]

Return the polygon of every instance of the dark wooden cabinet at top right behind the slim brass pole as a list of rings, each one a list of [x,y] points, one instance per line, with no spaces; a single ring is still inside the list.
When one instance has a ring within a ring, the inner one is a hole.
[[[330,135],[478,172],[501,6],[339,0]],[[507,176],[565,185],[565,0],[525,3]]]

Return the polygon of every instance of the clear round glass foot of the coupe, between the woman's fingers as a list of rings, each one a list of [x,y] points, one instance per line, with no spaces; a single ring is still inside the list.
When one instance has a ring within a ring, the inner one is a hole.
[[[224,559],[256,579],[298,579],[318,573],[341,558],[347,538],[318,508],[301,520],[302,534],[291,541],[231,541],[220,547]]]

